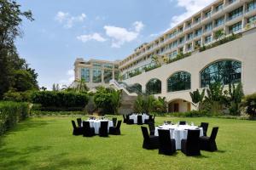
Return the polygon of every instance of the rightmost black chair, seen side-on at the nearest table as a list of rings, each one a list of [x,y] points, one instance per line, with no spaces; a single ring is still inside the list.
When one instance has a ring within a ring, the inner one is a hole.
[[[210,137],[207,137],[207,136],[201,136],[200,137],[200,148],[201,148],[201,150],[207,150],[207,151],[216,151],[216,150],[218,150],[217,144],[216,144],[216,141],[215,141],[217,133],[218,133],[218,127],[213,127]]]

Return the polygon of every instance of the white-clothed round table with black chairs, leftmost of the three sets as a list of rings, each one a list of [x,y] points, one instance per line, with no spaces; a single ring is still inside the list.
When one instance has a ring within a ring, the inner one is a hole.
[[[108,137],[108,134],[120,135],[120,126],[122,121],[117,121],[117,118],[108,120],[106,117],[91,116],[89,119],[82,121],[77,119],[77,124],[72,121],[73,135],[83,135],[84,137],[92,137],[99,135],[100,137]]]

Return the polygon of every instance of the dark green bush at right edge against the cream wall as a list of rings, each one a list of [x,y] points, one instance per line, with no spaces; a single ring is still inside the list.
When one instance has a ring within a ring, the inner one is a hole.
[[[256,116],[256,93],[245,96],[245,98],[242,101],[242,106],[249,116],[255,117]]]

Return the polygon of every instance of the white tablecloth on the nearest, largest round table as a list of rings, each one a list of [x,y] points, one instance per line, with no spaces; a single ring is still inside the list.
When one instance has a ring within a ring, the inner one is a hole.
[[[195,129],[197,126],[190,125],[162,125],[160,127],[155,127],[154,135],[158,136],[158,129],[168,129],[170,130],[171,139],[175,139],[176,150],[181,150],[181,140],[187,139],[188,131],[185,129]],[[203,136],[203,129],[200,128],[200,136]]]

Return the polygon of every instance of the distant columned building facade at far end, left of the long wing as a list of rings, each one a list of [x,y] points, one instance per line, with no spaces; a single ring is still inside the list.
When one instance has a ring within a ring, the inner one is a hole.
[[[109,81],[119,79],[119,61],[106,61],[82,58],[74,63],[75,80],[84,80],[89,88],[108,87]],[[75,82],[76,82],[75,81]]]

